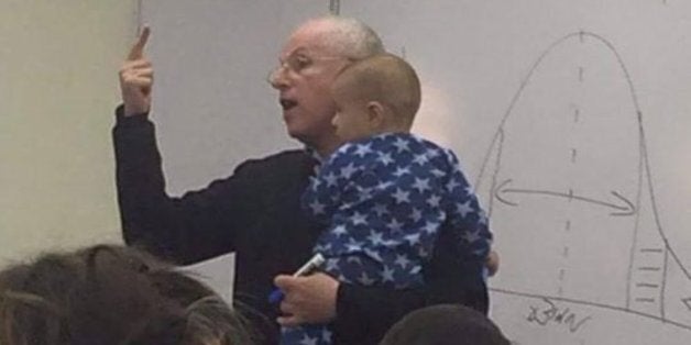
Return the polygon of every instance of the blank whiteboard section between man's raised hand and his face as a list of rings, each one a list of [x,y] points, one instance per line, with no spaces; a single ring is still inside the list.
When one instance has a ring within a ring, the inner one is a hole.
[[[141,1],[171,193],[227,177],[250,157],[299,147],[266,77],[294,26],[326,13],[328,3],[314,0]]]

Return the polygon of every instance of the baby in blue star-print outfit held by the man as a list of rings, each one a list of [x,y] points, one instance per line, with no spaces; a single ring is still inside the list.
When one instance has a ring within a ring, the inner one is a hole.
[[[478,289],[492,234],[459,163],[449,149],[410,134],[420,105],[420,82],[410,65],[380,54],[346,67],[331,86],[332,124],[347,143],[326,162],[303,196],[303,207],[323,231],[314,252],[341,282],[424,286],[442,226],[463,270]],[[283,330],[282,344],[330,344],[328,325]]]

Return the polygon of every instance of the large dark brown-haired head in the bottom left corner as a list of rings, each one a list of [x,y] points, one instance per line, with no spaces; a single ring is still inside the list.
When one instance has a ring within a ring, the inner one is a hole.
[[[3,345],[252,343],[206,286],[134,249],[47,254],[0,272]]]

